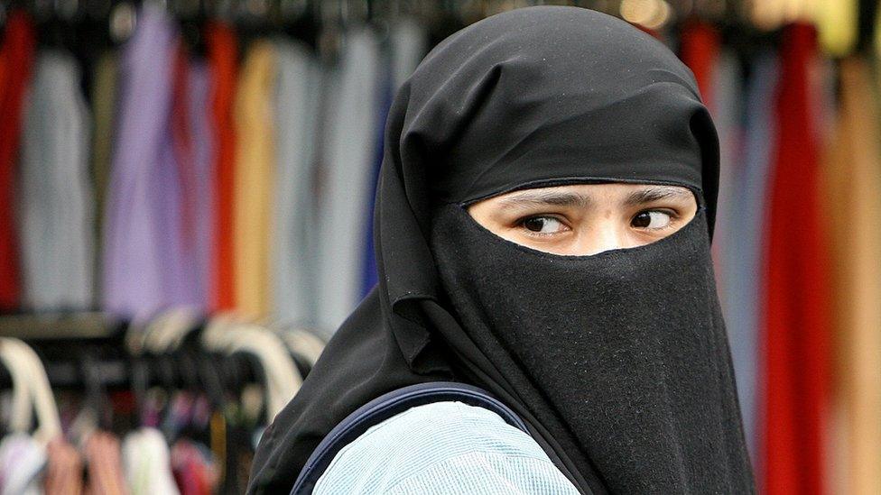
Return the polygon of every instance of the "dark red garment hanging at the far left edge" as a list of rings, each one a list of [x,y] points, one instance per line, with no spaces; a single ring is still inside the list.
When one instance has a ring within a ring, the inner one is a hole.
[[[4,59],[4,78],[0,79],[0,310],[18,307],[21,289],[14,214],[15,162],[35,42],[27,14],[21,10],[9,14],[0,48]]]

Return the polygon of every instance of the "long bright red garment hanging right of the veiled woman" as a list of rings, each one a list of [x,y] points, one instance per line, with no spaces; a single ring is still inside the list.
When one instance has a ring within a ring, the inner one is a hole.
[[[831,295],[809,86],[816,56],[812,26],[785,28],[766,223],[765,327],[760,329],[765,400],[760,486],[767,495],[822,493],[826,471]]]

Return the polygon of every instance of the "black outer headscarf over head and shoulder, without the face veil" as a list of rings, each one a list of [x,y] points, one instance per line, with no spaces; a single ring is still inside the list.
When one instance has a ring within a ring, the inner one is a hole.
[[[461,380],[496,395],[585,493],[608,492],[609,475],[623,490],[643,486],[604,466],[641,470],[645,478],[654,465],[638,465],[643,457],[591,457],[617,454],[584,445],[560,413],[561,398],[531,381],[522,357],[501,347],[489,352],[478,342],[484,329],[457,314],[441,280],[432,227],[439,206],[517,188],[660,183],[698,193],[706,230],[696,235],[709,244],[718,177],[719,142],[691,71],[662,43],[617,18],[576,7],[527,7],[440,42],[403,83],[386,123],[374,221],[379,286],[264,433],[249,492],[290,490],[314,447],[349,413],[428,380]],[[703,277],[704,268],[695,273]],[[724,335],[714,328],[713,335]],[[727,346],[714,349],[706,359],[722,369]],[[719,396],[734,393],[730,377],[718,383]],[[597,394],[617,393],[596,386]],[[730,438],[742,444],[737,411],[725,414]],[[659,480],[668,475],[659,473]],[[748,465],[737,475],[751,486]]]

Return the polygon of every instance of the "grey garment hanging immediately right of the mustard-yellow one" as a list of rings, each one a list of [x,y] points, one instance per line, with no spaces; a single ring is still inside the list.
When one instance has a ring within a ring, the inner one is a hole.
[[[313,144],[320,66],[301,43],[276,40],[274,49],[278,72],[274,94],[273,314],[278,321],[306,325],[315,314]]]

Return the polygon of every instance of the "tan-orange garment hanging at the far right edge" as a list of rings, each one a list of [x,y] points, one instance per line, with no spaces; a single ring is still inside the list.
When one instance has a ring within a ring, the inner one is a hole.
[[[837,493],[881,492],[881,120],[872,75],[857,58],[840,63],[838,122],[823,163],[821,210],[830,225],[836,417],[834,459],[845,461]]]

